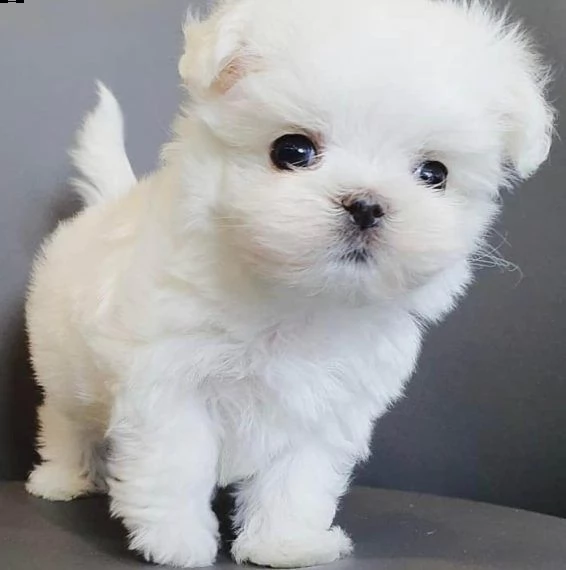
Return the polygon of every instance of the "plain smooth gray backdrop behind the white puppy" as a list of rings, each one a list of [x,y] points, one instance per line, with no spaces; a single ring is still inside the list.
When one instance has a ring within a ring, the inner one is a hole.
[[[134,167],[150,170],[180,96],[187,3],[0,6],[0,479],[23,478],[33,460],[38,396],[23,297],[42,237],[77,207],[66,187],[66,149],[95,101],[93,80],[117,94]],[[564,107],[566,2],[511,6],[555,63],[553,95]],[[460,308],[431,332],[405,400],[377,426],[359,481],[566,516],[565,171],[557,141],[541,173],[505,196],[498,231],[512,247],[502,253],[522,277],[482,271]]]

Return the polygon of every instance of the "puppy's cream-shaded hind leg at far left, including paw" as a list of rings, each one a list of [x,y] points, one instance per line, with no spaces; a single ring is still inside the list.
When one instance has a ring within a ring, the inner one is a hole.
[[[29,476],[29,493],[51,501],[70,501],[103,490],[96,473],[100,442],[94,428],[71,417],[49,396],[39,409],[39,427],[41,462]]]

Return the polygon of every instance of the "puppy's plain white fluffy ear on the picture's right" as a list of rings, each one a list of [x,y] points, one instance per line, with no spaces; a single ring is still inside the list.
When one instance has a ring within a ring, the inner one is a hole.
[[[550,73],[525,38],[507,39],[515,50],[504,94],[506,152],[517,174],[526,179],[548,158],[552,144],[555,111],[546,99]]]

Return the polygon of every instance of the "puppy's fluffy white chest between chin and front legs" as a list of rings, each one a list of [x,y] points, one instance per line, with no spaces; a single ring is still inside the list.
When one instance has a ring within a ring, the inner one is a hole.
[[[396,336],[392,343],[360,326],[275,328],[223,343],[231,350],[219,359],[222,370],[204,384],[219,427],[220,479],[245,477],[305,437],[363,447],[367,426],[400,395],[412,369],[414,343]]]

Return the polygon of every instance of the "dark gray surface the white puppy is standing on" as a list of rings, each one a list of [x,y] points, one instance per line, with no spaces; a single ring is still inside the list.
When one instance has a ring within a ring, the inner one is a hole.
[[[566,521],[508,508],[356,488],[340,523],[356,542],[328,570],[562,570]],[[103,499],[47,503],[0,485],[2,570],[134,570]],[[236,568],[226,556],[218,568]]]

